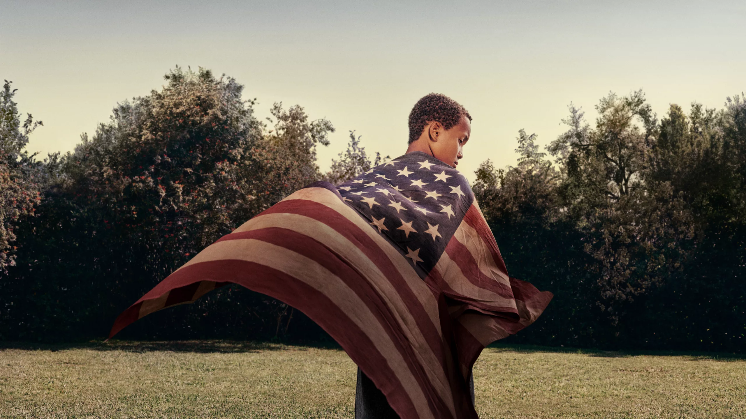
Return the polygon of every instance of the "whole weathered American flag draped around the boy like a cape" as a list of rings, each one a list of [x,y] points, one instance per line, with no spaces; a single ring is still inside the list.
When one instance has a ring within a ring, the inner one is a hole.
[[[316,321],[404,419],[477,418],[471,365],[552,297],[508,276],[466,178],[419,151],[289,195],[166,277],[109,337],[228,283]]]

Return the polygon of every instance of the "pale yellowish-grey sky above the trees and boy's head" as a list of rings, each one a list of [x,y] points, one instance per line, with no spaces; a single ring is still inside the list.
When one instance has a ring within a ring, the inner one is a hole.
[[[0,79],[44,126],[29,151],[69,151],[118,101],[160,89],[175,65],[212,69],[257,98],[300,104],[367,151],[404,153],[407,116],[430,92],[474,118],[459,169],[515,165],[524,128],[546,145],[574,102],[591,122],[609,91],[722,107],[746,90],[739,1],[7,1]]]

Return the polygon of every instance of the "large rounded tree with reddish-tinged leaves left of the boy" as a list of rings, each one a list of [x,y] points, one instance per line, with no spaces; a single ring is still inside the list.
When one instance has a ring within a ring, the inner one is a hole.
[[[48,164],[51,182],[5,279],[13,321],[2,335],[105,335],[122,309],[195,253],[320,178],[313,151],[328,143],[329,122],[275,104],[277,123],[266,130],[233,78],[177,68],[166,81],[118,104],[93,137]],[[286,311],[231,287],[132,333],[277,333]]]

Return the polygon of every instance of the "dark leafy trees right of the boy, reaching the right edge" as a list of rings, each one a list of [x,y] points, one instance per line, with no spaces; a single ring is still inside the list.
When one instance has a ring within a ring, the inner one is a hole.
[[[518,167],[476,172],[511,274],[556,294],[515,339],[745,350],[745,101],[660,122],[639,91],[597,109],[591,127],[571,105],[557,171],[521,130]]]

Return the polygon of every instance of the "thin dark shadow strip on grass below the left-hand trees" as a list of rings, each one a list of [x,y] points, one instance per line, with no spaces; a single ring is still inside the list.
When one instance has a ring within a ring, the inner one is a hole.
[[[88,341],[75,343],[41,344],[34,342],[0,341],[0,351],[20,350],[122,350],[125,352],[194,352],[194,353],[256,353],[263,350],[308,350],[309,348],[342,350],[336,342],[267,342],[267,341]]]

